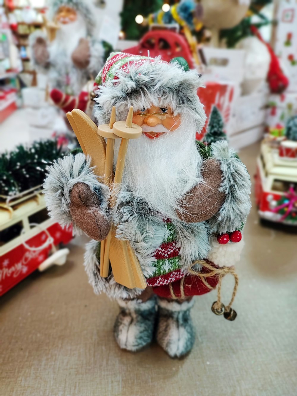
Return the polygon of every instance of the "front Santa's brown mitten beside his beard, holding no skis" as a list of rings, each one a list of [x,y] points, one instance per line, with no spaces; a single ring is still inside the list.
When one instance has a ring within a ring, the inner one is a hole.
[[[202,177],[204,183],[193,187],[180,203],[182,212],[177,215],[187,223],[198,223],[210,219],[219,211],[225,201],[225,193],[219,192],[222,172],[217,160],[204,161]]]

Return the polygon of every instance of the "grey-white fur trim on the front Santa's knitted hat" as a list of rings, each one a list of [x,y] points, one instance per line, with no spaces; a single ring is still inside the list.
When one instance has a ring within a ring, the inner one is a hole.
[[[202,83],[196,70],[185,72],[177,62],[150,62],[150,58],[141,66],[130,62],[128,67],[129,72],[115,72],[116,80],[99,87],[94,111],[99,124],[109,122],[112,106],[117,119],[123,120],[130,106],[137,111],[162,105],[170,106],[174,114],[194,118],[197,131],[202,129],[206,115],[197,96]]]

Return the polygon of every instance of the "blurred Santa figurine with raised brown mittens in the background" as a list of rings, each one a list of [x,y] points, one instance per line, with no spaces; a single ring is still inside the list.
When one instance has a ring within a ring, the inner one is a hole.
[[[83,0],[51,0],[49,16],[59,25],[55,39],[49,42],[42,31],[30,35],[33,63],[49,72],[51,98],[65,112],[86,109],[88,95],[82,89],[104,64],[103,43],[93,37],[91,7]]]

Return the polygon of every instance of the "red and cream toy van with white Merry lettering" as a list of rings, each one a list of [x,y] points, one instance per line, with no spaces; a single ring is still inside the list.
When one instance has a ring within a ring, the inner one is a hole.
[[[49,218],[38,187],[0,196],[0,296],[34,270],[66,262],[69,249],[60,244],[70,242],[72,226],[62,228]]]

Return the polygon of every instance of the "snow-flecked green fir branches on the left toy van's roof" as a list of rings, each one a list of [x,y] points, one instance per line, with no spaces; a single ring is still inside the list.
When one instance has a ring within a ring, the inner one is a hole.
[[[66,153],[57,148],[57,142],[46,140],[23,145],[10,153],[0,155],[0,195],[13,196],[41,185],[48,167]]]

